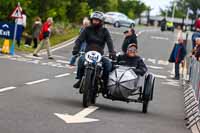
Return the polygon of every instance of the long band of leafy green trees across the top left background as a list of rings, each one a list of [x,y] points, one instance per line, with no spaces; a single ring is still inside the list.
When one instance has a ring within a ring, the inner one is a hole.
[[[138,0],[0,0],[0,21],[13,21],[9,14],[20,2],[27,15],[27,26],[31,28],[34,18],[43,21],[53,17],[54,21],[80,23],[93,11],[119,11],[130,18],[139,17],[146,5]],[[189,0],[188,0],[189,1]]]

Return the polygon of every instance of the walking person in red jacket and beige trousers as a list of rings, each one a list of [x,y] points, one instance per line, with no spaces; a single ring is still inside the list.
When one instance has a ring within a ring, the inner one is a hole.
[[[46,49],[47,49],[48,59],[53,59],[53,57],[51,56],[51,52],[50,52],[51,45],[50,45],[50,41],[49,41],[52,24],[53,24],[53,18],[49,17],[47,19],[47,21],[42,25],[40,35],[39,35],[41,42],[38,45],[37,49],[34,51],[33,56],[39,57],[38,52],[45,45]]]

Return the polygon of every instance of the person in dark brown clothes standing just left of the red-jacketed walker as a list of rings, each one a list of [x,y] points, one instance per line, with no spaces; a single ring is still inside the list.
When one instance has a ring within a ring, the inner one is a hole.
[[[41,27],[42,27],[41,19],[40,17],[36,17],[35,22],[32,26],[32,38],[34,42],[33,48],[37,48]]]

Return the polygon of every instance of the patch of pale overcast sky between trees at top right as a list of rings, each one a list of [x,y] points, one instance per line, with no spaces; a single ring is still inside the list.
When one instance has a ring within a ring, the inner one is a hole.
[[[141,0],[147,6],[150,6],[152,9],[151,15],[159,14],[160,8],[165,9],[170,5],[170,2],[173,0]]]

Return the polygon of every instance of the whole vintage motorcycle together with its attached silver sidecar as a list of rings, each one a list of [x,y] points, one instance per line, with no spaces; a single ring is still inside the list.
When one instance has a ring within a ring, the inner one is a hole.
[[[115,69],[110,73],[107,91],[104,91],[101,59],[102,55],[96,51],[85,53],[85,71],[79,88],[83,94],[83,107],[95,104],[96,98],[102,93],[106,99],[142,103],[142,112],[147,113],[149,101],[153,100],[155,77],[148,72],[144,76],[137,76],[134,68],[113,63]]]

